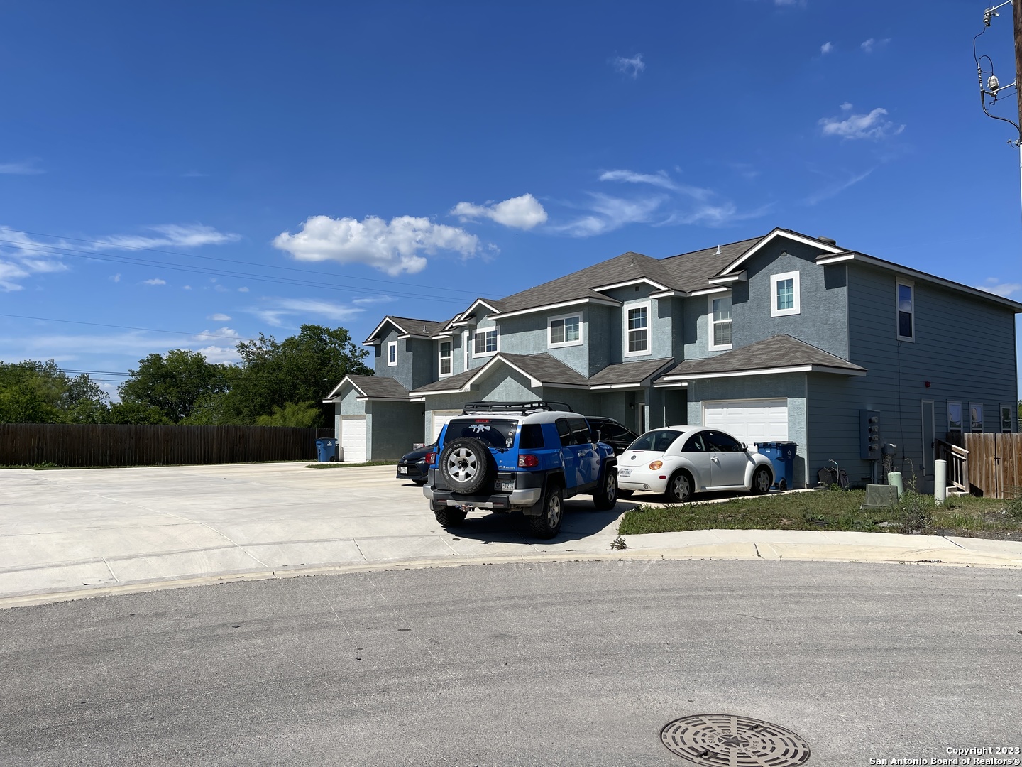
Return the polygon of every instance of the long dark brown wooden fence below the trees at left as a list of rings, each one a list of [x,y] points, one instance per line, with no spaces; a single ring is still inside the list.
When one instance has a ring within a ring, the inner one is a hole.
[[[153,466],[315,460],[328,428],[0,423],[0,465]]]

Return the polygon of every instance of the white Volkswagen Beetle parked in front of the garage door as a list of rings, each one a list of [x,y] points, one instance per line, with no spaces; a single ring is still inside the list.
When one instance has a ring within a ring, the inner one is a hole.
[[[617,487],[663,493],[673,503],[694,493],[744,490],[765,493],[774,484],[770,458],[730,434],[705,426],[666,426],[647,432],[617,457]]]

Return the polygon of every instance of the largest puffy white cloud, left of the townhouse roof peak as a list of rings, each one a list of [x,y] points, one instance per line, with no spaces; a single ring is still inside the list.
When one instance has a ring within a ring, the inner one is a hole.
[[[423,252],[454,251],[464,258],[479,251],[479,238],[464,229],[434,224],[427,218],[399,216],[389,223],[376,216],[362,221],[312,216],[296,234],[282,232],[273,244],[298,261],[366,264],[390,276],[426,268]]]

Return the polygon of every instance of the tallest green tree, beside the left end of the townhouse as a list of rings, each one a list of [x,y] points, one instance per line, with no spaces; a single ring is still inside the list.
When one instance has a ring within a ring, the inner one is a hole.
[[[260,337],[238,344],[241,369],[232,384],[226,417],[232,422],[256,423],[261,415],[288,403],[320,403],[347,374],[372,375],[363,360],[369,354],[342,327],[303,325],[297,335],[276,341]],[[312,425],[324,422],[320,418]]]

